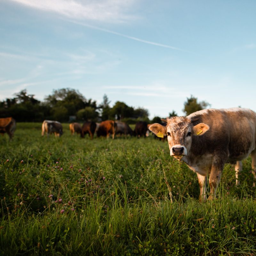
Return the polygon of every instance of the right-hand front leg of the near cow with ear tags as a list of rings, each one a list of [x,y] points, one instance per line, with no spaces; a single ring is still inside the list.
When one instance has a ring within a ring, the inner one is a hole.
[[[216,164],[216,163],[213,163],[212,164],[212,170],[211,170],[211,174],[210,174],[210,177],[209,177],[209,185],[210,185],[210,188],[211,188],[211,191],[210,191],[210,196],[208,197],[208,200],[212,200],[215,198],[215,195],[216,195],[216,190],[218,188],[218,185],[220,183],[220,178],[221,178],[221,173],[222,173],[222,170],[223,170],[223,165],[224,164]]]

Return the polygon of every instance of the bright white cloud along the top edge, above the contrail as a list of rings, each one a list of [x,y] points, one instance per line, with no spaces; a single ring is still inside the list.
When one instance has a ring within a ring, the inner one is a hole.
[[[126,22],[138,17],[127,14],[134,0],[12,0],[41,11],[56,12],[72,19]]]

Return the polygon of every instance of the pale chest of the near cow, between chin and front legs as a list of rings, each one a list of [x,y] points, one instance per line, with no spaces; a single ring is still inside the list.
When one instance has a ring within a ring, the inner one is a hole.
[[[193,160],[182,159],[196,173],[206,176],[212,169],[212,155],[197,156]]]

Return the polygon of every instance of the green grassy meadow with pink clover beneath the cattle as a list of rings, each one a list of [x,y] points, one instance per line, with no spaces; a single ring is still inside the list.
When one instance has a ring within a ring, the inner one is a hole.
[[[17,123],[0,137],[0,255],[256,255],[251,159],[236,187],[226,164],[216,200],[167,142],[41,137]]]

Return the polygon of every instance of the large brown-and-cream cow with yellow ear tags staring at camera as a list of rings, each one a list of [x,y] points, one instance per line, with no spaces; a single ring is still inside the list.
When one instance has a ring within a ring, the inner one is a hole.
[[[204,109],[187,117],[175,116],[166,126],[152,124],[155,134],[167,135],[170,155],[185,162],[197,174],[200,201],[206,201],[209,173],[211,188],[208,200],[216,196],[224,164],[235,164],[236,185],[242,171],[242,160],[252,156],[252,170],[256,166],[256,113],[247,108]],[[253,172],[254,180],[256,175]],[[255,183],[254,183],[255,185]]]

